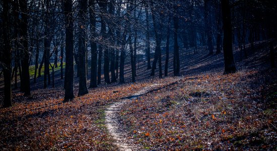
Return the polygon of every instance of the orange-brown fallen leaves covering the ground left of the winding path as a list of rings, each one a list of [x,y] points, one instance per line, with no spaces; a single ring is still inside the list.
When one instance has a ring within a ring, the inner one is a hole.
[[[113,150],[115,146],[103,120],[105,105],[127,97],[145,85],[93,89],[66,103],[61,103],[63,88],[36,90],[30,98],[22,93],[14,94],[14,106],[0,109],[0,142],[5,142],[0,143],[0,148]]]

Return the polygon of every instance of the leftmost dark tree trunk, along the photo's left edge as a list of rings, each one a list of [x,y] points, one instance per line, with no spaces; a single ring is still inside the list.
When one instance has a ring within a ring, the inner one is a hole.
[[[12,84],[11,84],[11,45],[10,45],[10,29],[9,29],[9,2],[8,0],[3,1],[3,67],[4,74],[4,105],[3,107],[12,106]]]

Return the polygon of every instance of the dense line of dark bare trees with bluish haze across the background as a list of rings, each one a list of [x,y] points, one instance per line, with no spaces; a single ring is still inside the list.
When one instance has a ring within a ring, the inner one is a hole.
[[[42,76],[42,69],[43,88],[50,87],[51,81],[55,86],[54,68],[58,65],[60,78],[64,77],[65,102],[75,97],[75,73],[79,79],[78,96],[82,96],[88,93],[88,75],[90,88],[101,84],[102,73],[105,84],[125,83],[124,65],[129,59],[134,83],[139,54],[146,56],[145,72],[154,76],[158,68],[159,78],[168,76],[170,50],[174,76],[180,75],[179,52],[195,54],[199,48],[209,55],[223,52],[224,73],[235,72],[233,44],[239,46],[242,59],[248,56],[247,43],[254,51],[255,41],[275,40],[277,21],[272,18],[277,17],[276,6],[269,0],[1,1],[4,106],[12,105],[12,82],[14,79],[17,88],[18,74],[20,90],[29,96],[30,85]],[[30,77],[30,65],[35,66],[34,77]]]

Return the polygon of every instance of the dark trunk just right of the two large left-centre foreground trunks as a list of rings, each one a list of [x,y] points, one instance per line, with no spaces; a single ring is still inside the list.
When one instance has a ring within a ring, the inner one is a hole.
[[[95,18],[95,0],[90,0],[90,28],[92,32],[92,38],[96,37],[96,18]],[[91,40],[91,81],[90,88],[97,87],[97,44]]]

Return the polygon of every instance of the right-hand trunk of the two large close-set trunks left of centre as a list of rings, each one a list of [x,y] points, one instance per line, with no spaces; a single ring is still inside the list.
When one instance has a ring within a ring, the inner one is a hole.
[[[78,56],[79,56],[79,91],[78,96],[83,96],[88,94],[87,87],[87,68],[86,68],[86,10],[87,10],[87,0],[79,1],[79,41],[78,41]]]

